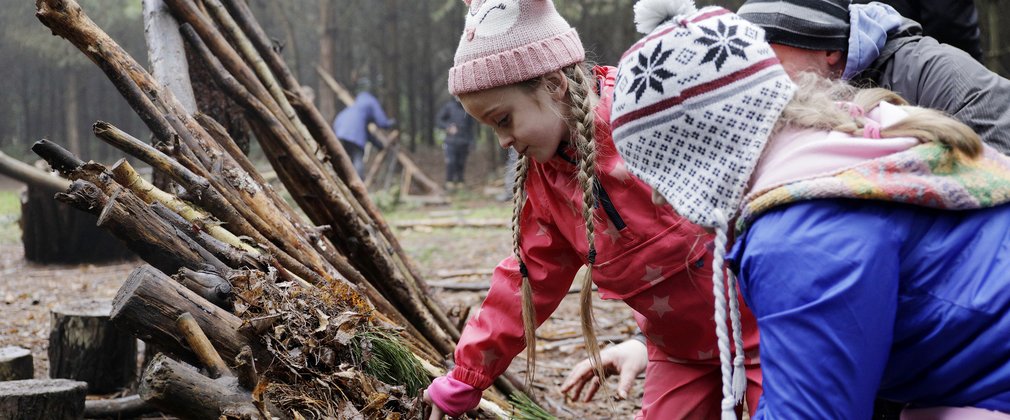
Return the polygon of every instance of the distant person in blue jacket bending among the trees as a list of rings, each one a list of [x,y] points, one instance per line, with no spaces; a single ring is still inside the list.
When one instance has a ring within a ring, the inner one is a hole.
[[[382,149],[386,145],[378,138],[369,133],[369,123],[375,123],[380,128],[392,128],[395,121],[386,116],[386,112],[379,105],[379,100],[369,93],[371,83],[367,78],[358,80],[358,96],[355,103],[344,108],[336,114],[333,119],[333,132],[336,138],[340,139],[343,149],[350,156],[350,162],[355,165],[358,176],[364,176],[365,172],[365,144],[371,142],[377,148]]]

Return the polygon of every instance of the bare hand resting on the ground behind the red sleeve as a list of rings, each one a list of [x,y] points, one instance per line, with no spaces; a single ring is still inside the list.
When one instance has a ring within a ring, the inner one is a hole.
[[[603,361],[604,374],[608,376],[620,375],[617,382],[617,395],[621,399],[626,399],[628,392],[631,391],[631,386],[634,385],[634,379],[648,364],[648,350],[641,341],[630,339],[600,351],[600,358]],[[592,383],[586,390],[586,399],[582,401],[592,400],[596,391],[600,389],[600,380],[596,377],[593,366],[587,358],[576,364],[569,373],[568,378],[562,384],[562,393],[569,395],[571,392],[572,400],[579,401],[583,388],[590,382]]]

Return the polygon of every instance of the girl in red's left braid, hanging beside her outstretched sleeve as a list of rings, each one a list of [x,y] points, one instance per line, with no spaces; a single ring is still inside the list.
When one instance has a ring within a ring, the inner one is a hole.
[[[526,339],[526,388],[533,385],[533,374],[536,370],[536,307],[533,306],[533,288],[529,283],[529,273],[526,264],[522,261],[519,250],[519,218],[525,202],[526,174],[529,171],[529,158],[520,155],[515,162],[515,184],[512,186],[512,252],[519,262],[519,274],[522,282],[519,291],[522,294],[522,329]]]

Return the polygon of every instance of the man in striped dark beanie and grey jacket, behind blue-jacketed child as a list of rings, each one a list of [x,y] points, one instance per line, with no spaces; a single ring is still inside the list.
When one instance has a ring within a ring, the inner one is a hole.
[[[891,6],[849,0],[748,0],[737,11],[761,26],[790,75],[813,72],[897,92],[944,111],[1010,153],[1010,81],[965,51],[923,36]]]

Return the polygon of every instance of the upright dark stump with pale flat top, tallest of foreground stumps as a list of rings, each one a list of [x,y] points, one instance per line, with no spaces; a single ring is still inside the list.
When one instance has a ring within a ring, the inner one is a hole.
[[[88,383],[90,394],[108,394],[136,379],[136,339],[109,322],[112,303],[85,300],[53,309],[49,377]]]

